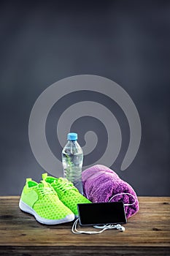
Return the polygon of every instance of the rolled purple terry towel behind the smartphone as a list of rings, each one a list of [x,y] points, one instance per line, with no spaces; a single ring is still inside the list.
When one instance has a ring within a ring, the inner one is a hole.
[[[94,165],[82,172],[82,184],[85,197],[92,203],[109,202],[112,196],[120,193],[131,195],[117,195],[110,202],[123,201],[126,217],[129,218],[139,211],[139,201],[134,189],[117,174],[104,165]],[[133,197],[134,196],[134,197]],[[135,203],[134,203],[135,202]]]

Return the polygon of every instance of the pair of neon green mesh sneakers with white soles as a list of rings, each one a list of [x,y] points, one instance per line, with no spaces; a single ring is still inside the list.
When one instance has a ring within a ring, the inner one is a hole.
[[[39,184],[31,178],[26,179],[19,207],[34,215],[38,222],[55,225],[72,222],[78,217],[77,203],[90,201],[66,178],[55,178],[43,173]]]

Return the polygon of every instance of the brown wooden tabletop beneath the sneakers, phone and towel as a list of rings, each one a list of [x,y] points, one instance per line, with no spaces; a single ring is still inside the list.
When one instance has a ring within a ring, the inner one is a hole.
[[[124,233],[93,236],[74,235],[73,222],[41,225],[18,203],[19,197],[0,197],[0,255],[170,255],[170,197],[139,197]]]

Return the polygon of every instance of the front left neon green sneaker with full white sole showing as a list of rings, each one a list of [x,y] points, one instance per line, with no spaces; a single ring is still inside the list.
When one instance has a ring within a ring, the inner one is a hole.
[[[53,187],[45,181],[38,184],[27,178],[19,207],[42,224],[55,225],[74,220],[72,211],[64,206]]]

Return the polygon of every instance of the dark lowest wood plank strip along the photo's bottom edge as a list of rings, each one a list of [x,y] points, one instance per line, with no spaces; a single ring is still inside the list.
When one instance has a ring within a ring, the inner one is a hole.
[[[8,248],[7,246],[2,246],[0,248],[1,256],[104,256],[104,255],[112,255],[112,256],[169,256],[169,247],[144,247],[142,250],[139,250],[138,247],[104,247],[104,246],[70,246],[69,248],[66,246],[11,246]]]

